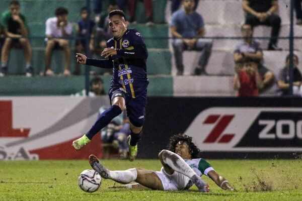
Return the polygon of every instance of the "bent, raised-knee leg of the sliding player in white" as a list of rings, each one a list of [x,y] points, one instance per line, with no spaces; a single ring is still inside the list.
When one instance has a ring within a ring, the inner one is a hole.
[[[184,161],[182,157],[169,150],[162,150],[159,153],[159,158],[168,174],[173,174],[174,171],[182,173],[189,177],[200,191],[208,191],[207,184],[200,176]]]

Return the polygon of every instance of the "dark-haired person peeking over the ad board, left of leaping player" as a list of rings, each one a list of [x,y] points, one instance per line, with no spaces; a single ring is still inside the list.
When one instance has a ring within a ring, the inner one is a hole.
[[[88,93],[88,96],[94,97],[98,95],[105,95],[103,83],[104,83],[103,79],[99,76],[95,76],[94,78],[92,78],[90,80],[90,87],[89,87],[90,91]],[[86,96],[86,89],[83,89],[82,91],[75,93],[72,96],[75,97]]]

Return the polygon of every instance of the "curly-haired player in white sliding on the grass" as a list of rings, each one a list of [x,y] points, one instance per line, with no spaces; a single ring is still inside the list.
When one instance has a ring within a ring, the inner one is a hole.
[[[90,165],[105,179],[127,184],[132,181],[135,185],[124,187],[145,186],[157,190],[186,190],[195,184],[202,192],[208,192],[209,187],[201,176],[210,177],[219,187],[225,190],[234,190],[228,180],[219,175],[204,159],[199,158],[200,150],[192,142],[192,137],[187,135],[174,135],[168,144],[169,150],[162,150],[159,158],[163,167],[160,171],[131,168],[121,171],[111,171],[104,167],[99,159],[89,156]]]

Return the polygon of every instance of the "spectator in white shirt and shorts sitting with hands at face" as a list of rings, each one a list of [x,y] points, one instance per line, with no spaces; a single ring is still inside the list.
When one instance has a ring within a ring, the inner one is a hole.
[[[46,50],[45,50],[45,75],[54,75],[50,69],[51,54],[53,49],[63,49],[64,52],[64,75],[70,75],[70,47],[68,37],[72,32],[72,24],[67,19],[67,9],[60,7],[55,10],[55,16],[46,21]]]

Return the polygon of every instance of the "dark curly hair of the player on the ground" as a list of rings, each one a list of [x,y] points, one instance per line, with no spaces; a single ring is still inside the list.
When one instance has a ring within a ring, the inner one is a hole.
[[[192,137],[187,136],[185,134],[176,134],[170,137],[167,149],[175,153],[175,147],[179,141],[184,141],[189,145],[192,158],[199,158],[200,149],[198,149],[196,145],[192,142]]]

